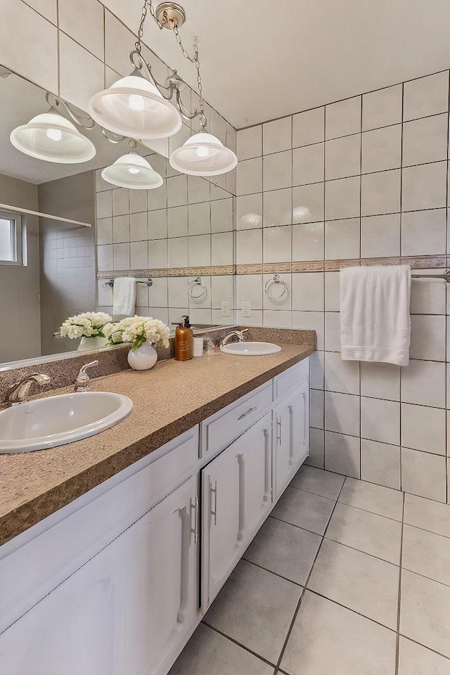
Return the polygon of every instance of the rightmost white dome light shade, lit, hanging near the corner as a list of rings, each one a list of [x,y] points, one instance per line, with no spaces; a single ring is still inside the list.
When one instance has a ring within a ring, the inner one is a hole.
[[[212,134],[194,134],[169,158],[177,171],[190,176],[218,176],[234,169],[238,158]]]

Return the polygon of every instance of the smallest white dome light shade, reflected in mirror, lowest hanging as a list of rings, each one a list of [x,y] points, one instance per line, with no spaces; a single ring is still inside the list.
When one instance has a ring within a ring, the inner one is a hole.
[[[131,190],[153,190],[162,185],[160,174],[136,153],[122,155],[110,167],[103,169],[101,177],[107,183]]]

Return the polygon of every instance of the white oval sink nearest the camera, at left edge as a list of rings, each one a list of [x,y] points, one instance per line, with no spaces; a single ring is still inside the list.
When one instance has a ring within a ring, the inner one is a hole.
[[[133,401],[111,392],[77,392],[0,411],[0,454],[44,450],[94,436],[131,413]]]

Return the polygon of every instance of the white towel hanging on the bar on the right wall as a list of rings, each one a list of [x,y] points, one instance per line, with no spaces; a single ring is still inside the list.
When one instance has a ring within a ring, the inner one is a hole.
[[[411,340],[411,267],[346,267],[340,271],[343,361],[407,366]]]

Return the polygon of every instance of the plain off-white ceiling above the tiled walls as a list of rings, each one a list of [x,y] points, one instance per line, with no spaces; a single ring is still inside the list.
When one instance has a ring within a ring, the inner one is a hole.
[[[142,0],[102,1],[136,32]],[[190,53],[199,39],[205,100],[238,129],[450,67],[449,0],[179,1]],[[193,65],[150,16],[144,41],[195,86]]]

